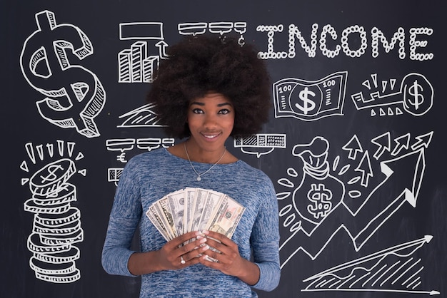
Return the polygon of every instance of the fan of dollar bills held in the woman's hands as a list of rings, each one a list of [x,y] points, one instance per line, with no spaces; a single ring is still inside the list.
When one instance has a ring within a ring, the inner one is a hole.
[[[154,202],[147,217],[166,241],[186,232],[210,230],[231,238],[245,207],[214,190],[186,187]]]

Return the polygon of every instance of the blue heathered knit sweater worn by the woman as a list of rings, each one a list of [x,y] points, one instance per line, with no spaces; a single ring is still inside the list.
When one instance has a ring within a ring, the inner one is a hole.
[[[207,163],[193,163],[199,173]],[[134,232],[139,227],[141,251],[159,250],[166,240],[146,217],[149,206],[169,192],[201,187],[229,195],[246,207],[231,240],[241,257],[255,262],[261,272],[250,287],[237,277],[195,264],[141,277],[140,297],[257,297],[254,289],[271,291],[279,282],[278,202],[271,180],[261,170],[238,160],[216,165],[201,181],[188,160],[166,149],[143,153],[129,160],[119,180],[102,253],[109,274],[131,276],[127,267]]]

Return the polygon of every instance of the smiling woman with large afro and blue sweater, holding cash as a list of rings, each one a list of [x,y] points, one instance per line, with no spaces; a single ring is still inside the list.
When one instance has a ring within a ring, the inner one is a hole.
[[[102,255],[106,272],[142,276],[140,297],[257,297],[253,289],[278,285],[273,184],[225,147],[228,137],[258,133],[268,120],[270,83],[256,55],[233,38],[197,36],[171,46],[161,63],[148,101],[156,103],[166,133],[186,140],[129,160]],[[221,192],[245,207],[231,239],[208,230],[164,239],[145,212],[186,187]]]

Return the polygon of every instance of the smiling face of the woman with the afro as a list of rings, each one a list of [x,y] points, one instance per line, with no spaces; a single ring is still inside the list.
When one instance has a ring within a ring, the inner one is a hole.
[[[221,153],[234,125],[234,108],[221,93],[207,93],[189,103],[188,125],[191,140],[201,150]]]

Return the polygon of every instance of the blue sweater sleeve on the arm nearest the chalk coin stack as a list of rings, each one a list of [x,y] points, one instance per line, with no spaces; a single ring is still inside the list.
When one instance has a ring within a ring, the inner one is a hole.
[[[139,179],[134,164],[133,160],[129,160],[123,170],[109,217],[101,257],[102,266],[109,274],[133,276],[129,272],[128,262],[134,253],[131,242],[142,212]]]

